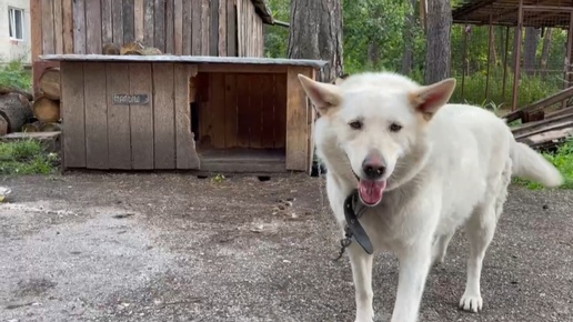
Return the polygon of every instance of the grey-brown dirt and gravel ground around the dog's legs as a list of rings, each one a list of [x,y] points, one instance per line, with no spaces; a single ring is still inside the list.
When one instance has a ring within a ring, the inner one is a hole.
[[[353,321],[320,179],[68,174],[0,185],[12,189],[0,204],[2,322]],[[456,308],[458,233],[429,278],[421,321],[573,321],[572,231],[572,191],[512,187],[483,268],[484,311]],[[378,255],[376,321],[390,320],[396,281],[395,259]]]

